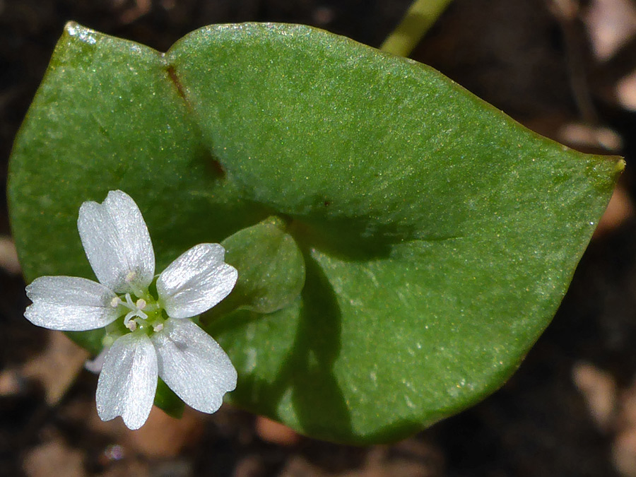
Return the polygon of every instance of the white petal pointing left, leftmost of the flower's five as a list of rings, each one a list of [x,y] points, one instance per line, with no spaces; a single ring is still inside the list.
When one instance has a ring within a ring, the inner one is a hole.
[[[101,283],[74,276],[41,276],[26,288],[33,305],[24,316],[37,326],[62,331],[103,328],[118,312],[114,293]]]

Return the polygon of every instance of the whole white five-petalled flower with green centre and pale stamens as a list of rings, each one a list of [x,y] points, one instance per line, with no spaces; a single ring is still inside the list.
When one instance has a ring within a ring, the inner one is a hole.
[[[43,276],[28,285],[33,301],[25,317],[62,331],[106,327],[112,343],[97,389],[102,420],[122,416],[131,429],[146,422],[157,376],[199,411],[215,412],[236,387],[230,358],[189,317],[209,310],[230,293],[237,271],[223,262],[218,244],[192,247],[148,287],[155,255],[141,211],[130,196],[111,191],[102,204],[84,202],[77,222],[86,257],[100,283]],[[114,341],[114,342],[113,342]]]

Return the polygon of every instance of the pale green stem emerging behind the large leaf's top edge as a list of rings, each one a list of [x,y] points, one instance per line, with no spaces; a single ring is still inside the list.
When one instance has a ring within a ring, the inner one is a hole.
[[[384,40],[383,52],[407,57],[418,45],[452,0],[415,0],[391,35]]]

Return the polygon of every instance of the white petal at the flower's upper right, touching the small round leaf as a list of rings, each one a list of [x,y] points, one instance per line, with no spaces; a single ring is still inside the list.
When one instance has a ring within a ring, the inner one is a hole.
[[[195,245],[161,273],[157,292],[169,317],[194,317],[228,296],[238,273],[224,256],[218,244]]]

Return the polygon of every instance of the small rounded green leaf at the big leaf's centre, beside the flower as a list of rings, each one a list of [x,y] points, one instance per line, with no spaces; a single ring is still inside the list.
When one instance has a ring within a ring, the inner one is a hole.
[[[288,306],[305,285],[305,262],[280,218],[236,232],[223,240],[225,261],[240,270],[232,293],[214,308],[227,314],[237,307],[271,313]]]

